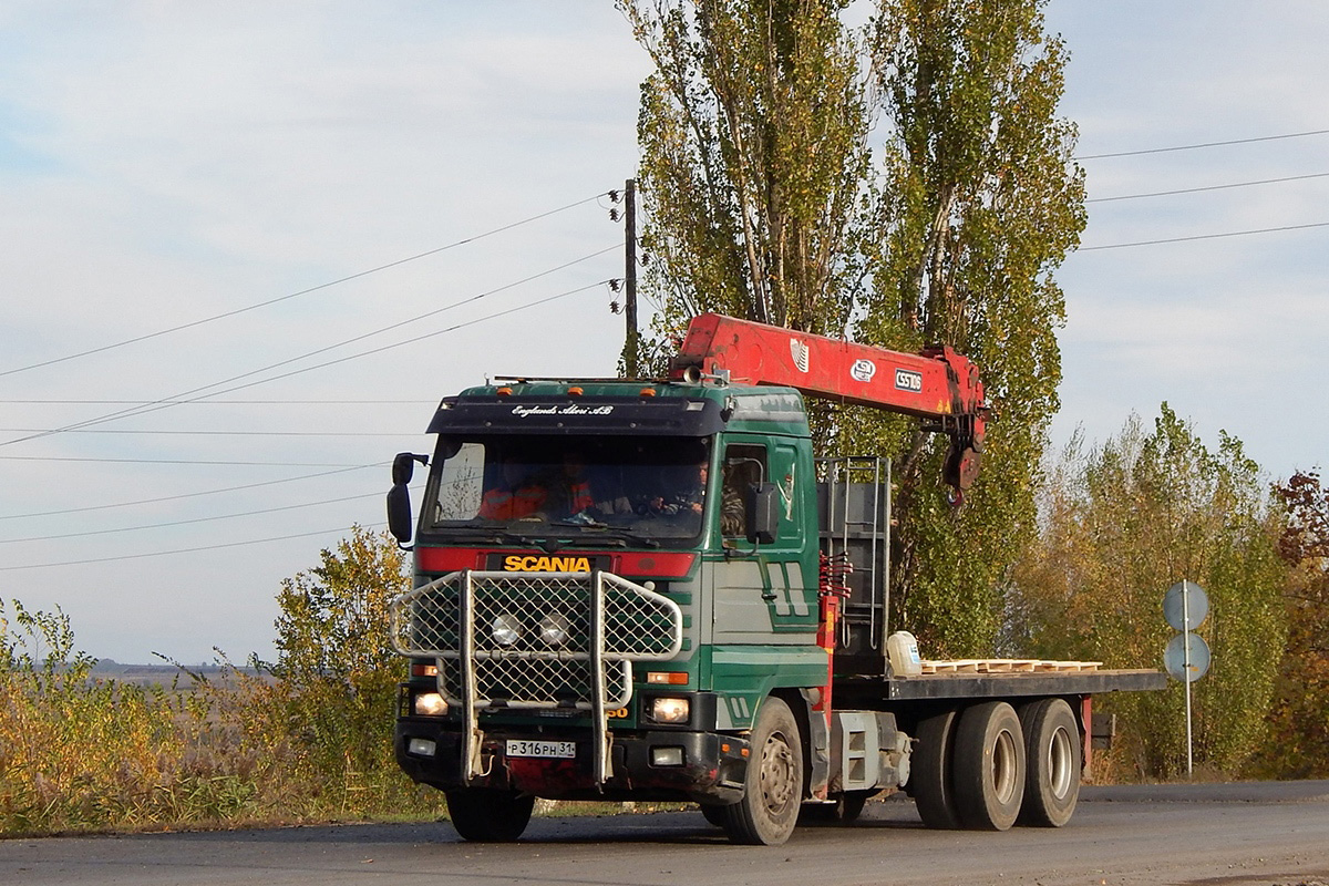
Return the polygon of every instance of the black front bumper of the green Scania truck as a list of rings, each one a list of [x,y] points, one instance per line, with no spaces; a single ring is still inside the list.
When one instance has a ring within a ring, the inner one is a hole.
[[[401,717],[393,747],[397,764],[412,780],[448,789],[460,786],[521,790],[549,800],[687,800],[732,804],[743,796],[748,743],[728,735],[687,731],[615,731],[611,733],[613,776],[595,785],[591,740],[586,729],[540,731],[501,727],[485,731],[484,774],[462,778],[462,733],[457,723]],[[509,757],[508,739],[575,741],[573,758]],[[428,751],[432,749],[432,753]],[[679,754],[682,761],[674,764]],[[661,756],[670,765],[659,765]]]

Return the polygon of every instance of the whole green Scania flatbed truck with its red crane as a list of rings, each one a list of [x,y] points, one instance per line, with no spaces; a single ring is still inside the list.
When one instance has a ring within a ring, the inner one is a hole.
[[[917,416],[973,482],[977,368],[700,315],[667,379],[509,379],[401,453],[396,757],[472,841],[537,797],[692,801],[734,842],[904,789],[928,826],[1059,826],[1091,696],[1156,671],[918,658],[888,624],[890,465],[813,457],[804,396]],[[419,514],[407,491],[428,465]]]

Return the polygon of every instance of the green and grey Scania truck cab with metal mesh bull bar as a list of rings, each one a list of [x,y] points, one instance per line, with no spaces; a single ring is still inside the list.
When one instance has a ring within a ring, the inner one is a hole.
[[[459,806],[740,800],[763,703],[805,715],[831,680],[801,396],[514,380],[445,400],[429,432],[395,607],[403,769]],[[787,793],[796,814],[804,785]]]

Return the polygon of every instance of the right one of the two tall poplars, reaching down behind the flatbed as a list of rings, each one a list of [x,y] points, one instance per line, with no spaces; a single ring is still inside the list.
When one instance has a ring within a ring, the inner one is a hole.
[[[892,603],[932,655],[977,655],[999,627],[1007,570],[1033,539],[1034,490],[1058,408],[1053,271],[1084,227],[1075,126],[1057,116],[1066,48],[1043,0],[884,0],[872,49],[894,129],[881,250],[859,337],[953,345],[982,371],[998,421],[966,506],[946,506],[945,440],[901,421],[843,422],[843,449],[896,458]],[[868,449],[870,450],[870,449]]]

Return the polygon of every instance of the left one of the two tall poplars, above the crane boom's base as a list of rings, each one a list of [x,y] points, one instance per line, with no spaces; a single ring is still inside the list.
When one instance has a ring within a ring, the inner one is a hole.
[[[840,332],[863,279],[869,114],[845,0],[619,0],[642,84],[643,288],[671,349],[703,311]],[[657,352],[657,363],[663,355]]]

